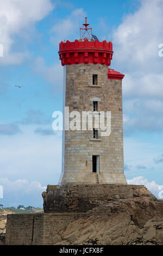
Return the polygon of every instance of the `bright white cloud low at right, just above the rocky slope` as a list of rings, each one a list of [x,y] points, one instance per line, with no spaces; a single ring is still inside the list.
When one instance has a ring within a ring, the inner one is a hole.
[[[143,176],[138,176],[131,180],[127,180],[127,183],[131,185],[144,185],[145,187],[148,188],[149,191],[151,191],[154,194],[155,197],[158,198],[160,196],[159,192],[163,190],[163,188],[161,189],[160,185],[156,184],[155,181],[149,182],[147,179],[143,178]]]

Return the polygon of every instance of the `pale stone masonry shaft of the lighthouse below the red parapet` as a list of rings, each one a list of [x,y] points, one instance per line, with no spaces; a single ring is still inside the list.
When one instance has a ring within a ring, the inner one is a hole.
[[[93,86],[92,75],[98,84]],[[62,184],[127,184],[123,170],[122,81],[108,79],[108,66],[101,64],[66,65],[65,106],[70,112],[111,112],[111,134],[93,138],[93,131],[65,131],[64,175]],[[92,155],[99,155],[98,181],[92,173]]]

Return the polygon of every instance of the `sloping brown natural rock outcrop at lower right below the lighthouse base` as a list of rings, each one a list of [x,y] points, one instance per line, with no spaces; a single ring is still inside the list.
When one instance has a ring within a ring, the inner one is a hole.
[[[163,245],[162,202],[126,199],[93,209],[89,215],[55,234],[53,245]]]

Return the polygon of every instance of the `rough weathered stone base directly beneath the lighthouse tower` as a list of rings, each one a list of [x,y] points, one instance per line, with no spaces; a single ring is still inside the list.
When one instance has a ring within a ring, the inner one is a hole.
[[[44,212],[87,212],[99,205],[136,197],[156,198],[140,185],[47,186],[42,193]]]

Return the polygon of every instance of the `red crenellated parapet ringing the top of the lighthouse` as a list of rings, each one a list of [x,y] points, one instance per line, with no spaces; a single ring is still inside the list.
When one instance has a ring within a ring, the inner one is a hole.
[[[93,63],[110,66],[112,59],[112,42],[95,41],[66,41],[59,44],[59,58],[62,66]]]

